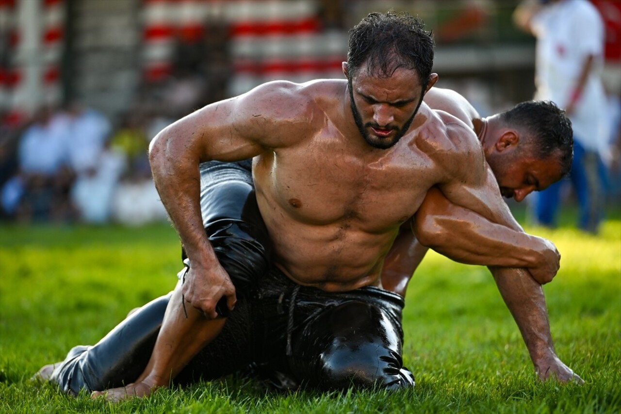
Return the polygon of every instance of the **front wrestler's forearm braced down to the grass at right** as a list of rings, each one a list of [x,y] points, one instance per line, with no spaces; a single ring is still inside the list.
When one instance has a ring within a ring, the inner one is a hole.
[[[502,298],[517,323],[536,367],[555,357],[543,289],[527,270],[490,267]]]

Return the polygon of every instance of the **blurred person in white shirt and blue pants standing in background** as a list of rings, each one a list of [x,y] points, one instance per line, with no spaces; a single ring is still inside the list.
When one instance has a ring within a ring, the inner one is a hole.
[[[524,1],[514,20],[537,37],[536,99],[564,108],[574,130],[570,178],[580,229],[596,233],[603,216],[602,155],[609,155],[607,106],[601,81],[604,27],[586,0]],[[535,196],[537,224],[553,226],[563,181]]]

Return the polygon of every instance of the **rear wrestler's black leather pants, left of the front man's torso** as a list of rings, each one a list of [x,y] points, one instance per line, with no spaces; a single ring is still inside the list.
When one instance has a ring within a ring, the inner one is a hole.
[[[201,209],[207,236],[242,298],[233,323],[227,322],[230,327],[210,348],[221,346],[220,351],[229,352],[237,349],[232,342],[242,343],[232,341],[230,335],[240,334],[240,324],[247,321],[245,292],[252,292],[268,265],[269,237],[256,206],[250,163],[202,164]],[[182,256],[186,258],[184,252]],[[81,389],[99,391],[134,382],[147,366],[169,299],[170,293],[142,306],[94,346],[73,347],[50,380],[72,395]],[[223,339],[228,340],[227,346],[222,345]],[[240,369],[239,364],[210,368],[219,376]],[[194,372],[184,371],[179,377],[189,380]]]

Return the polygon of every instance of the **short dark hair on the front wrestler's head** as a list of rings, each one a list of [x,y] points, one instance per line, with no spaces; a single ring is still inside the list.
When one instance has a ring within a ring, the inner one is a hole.
[[[427,86],[433,67],[433,38],[406,12],[370,13],[350,30],[349,78],[366,64],[369,75],[388,78],[398,68],[416,70]]]

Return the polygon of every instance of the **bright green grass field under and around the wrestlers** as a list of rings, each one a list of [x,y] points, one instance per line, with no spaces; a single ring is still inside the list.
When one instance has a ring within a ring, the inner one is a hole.
[[[368,413],[621,411],[621,216],[600,236],[527,229],[563,254],[544,290],[558,356],[586,381],[545,384],[484,267],[429,254],[406,298],[403,392],[276,393],[237,377],[158,390],[117,405],[30,380],[93,344],[130,308],[168,292],[179,248],[166,224],[143,228],[0,226],[1,413]],[[571,215],[564,218],[569,223]]]

